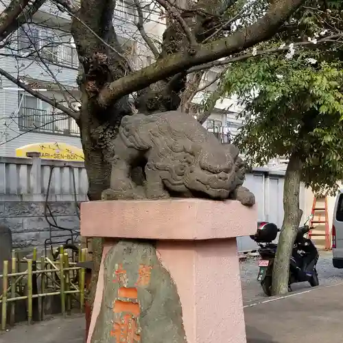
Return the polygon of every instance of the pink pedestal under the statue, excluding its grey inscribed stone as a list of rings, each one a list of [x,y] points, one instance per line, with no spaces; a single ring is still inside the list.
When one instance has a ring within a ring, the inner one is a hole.
[[[178,289],[188,343],[246,343],[236,237],[252,235],[256,225],[256,207],[233,200],[99,201],[81,207],[82,236],[108,238],[103,261],[113,238],[157,240],[158,256]],[[103,287],[102,266],[87,343]]]

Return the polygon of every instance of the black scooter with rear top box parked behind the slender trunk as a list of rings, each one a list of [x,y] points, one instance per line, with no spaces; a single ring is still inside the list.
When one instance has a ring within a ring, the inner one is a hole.
[[[304,226],[298,228],[294,248],[289,264],[289,290],[292,283],[309,282],[311,287],[319,285],[316,264],[319,258],[318,250],[311,239],[305,238],[304,235],[310,230],[309,222],[311,216],[307,218]],[[273,223],[258,222],[257,232],[250,236],[260,246],[259,255],[259,274],[257,281],[261,283],[263,292],[267,296],[272,295],[272,273],[274,259],[276,255],[277,244],[272,244],[276,239],[279,228]]]

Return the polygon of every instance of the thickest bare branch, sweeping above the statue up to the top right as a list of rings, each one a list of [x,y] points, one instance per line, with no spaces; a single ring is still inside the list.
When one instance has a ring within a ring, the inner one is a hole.
[[[230,56],[270,38],[275,29],[282,25],[304,1],[276,0],[270,10],[256,23],[235,32],[227,38],[205,45],[198,45],[196,54],[193,56],[182,53],[166,56],[149,67],[107,84],[99,93],[99,104],[106,107],[120,97],[145,88],[158,80],[166,79],[197,64],[204,64]]]

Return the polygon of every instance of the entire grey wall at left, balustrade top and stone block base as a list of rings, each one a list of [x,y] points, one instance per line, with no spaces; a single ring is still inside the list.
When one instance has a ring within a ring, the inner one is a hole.
[[[76,205],[87,200],[87,185],[83,163],[0,157],[0,223],[12,230],[14,248],[44,246],[51,235],[59,236],[52,238],[54,244],[75,238],[80,233]]]

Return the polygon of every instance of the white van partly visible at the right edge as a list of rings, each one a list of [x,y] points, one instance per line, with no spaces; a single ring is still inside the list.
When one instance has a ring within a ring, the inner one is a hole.
[[[343,189],[335,201],[332,218],[332,262],[333,267],[343,268]]]

